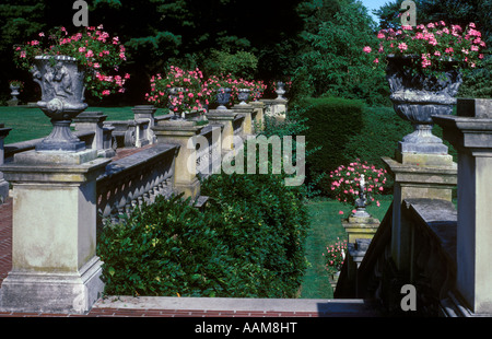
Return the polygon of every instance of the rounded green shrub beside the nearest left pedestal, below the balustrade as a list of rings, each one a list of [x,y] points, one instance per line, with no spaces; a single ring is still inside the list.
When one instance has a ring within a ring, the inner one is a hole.
[[[125,223],[107,225],[97,250],[104,261],[105,293],[113,295],[221,294],[227,284],[226,248],[214,215],[179,197],[157,197]]]

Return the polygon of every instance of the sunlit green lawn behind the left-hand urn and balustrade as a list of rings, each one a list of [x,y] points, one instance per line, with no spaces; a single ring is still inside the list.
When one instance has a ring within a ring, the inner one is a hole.
[[[133,118],[131,108],[129,106],[89,107],[85,112],[103,112],[107,115],[107,121],[127,120]],[[156,115],[164,114],[161,110],[157,110]],[[12,128],[5,138],[5,143],[44,138],[51,132],[51,122],[39,108],[0,106],[0,122],[4,124],[7,128]]]

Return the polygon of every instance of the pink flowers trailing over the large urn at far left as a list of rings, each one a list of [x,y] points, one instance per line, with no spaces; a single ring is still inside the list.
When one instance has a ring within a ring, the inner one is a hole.
[[[128,73],[120,74],[119,66],[127,60],[125,46],[117,36],[110,37],[103,25],[84,27],[83,32],[70,35],[65,27],[52,33],[40,32],[37,39],[23,46],[14,46],[17,67],[31,69],[34,58],[42,55],[74,57],[85,67],[85,85],[95,97],[125,92]]]

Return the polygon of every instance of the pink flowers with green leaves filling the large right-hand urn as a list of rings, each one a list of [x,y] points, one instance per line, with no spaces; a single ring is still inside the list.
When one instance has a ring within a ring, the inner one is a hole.
[[[379,46],[374,51],[373,62],[389,55],[415,56],[413,66],[424,73],[440,71],[443,62],[458,61],[464,69],[472,69],[483,59],[485,43],[476,25],[466,28],[459,25],[447,26],[444,21],[420,24],[417,27],[402,26],[400,30],[382,30],[377,34]],[[373,54],[373,48],[365,46],[363,51]]]

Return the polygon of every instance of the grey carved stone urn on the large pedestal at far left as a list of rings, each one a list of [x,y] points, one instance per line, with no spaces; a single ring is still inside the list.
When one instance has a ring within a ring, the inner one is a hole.
[[[42,100],[36,105],[51,119],[54,127],[36,145],[36,151],[85,150],[85,143],[70,130],[72,119],[87,108],[84,68],[73,57],[37,56],[31,71],[42,89]]]

